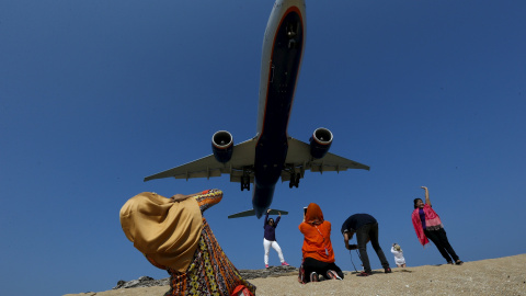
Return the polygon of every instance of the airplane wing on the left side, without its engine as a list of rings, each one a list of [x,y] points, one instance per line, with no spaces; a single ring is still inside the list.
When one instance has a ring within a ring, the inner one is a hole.
[[[145,182],[153,179],[173,177],[175,179],[192,179],[220,177],[222,173],[230,174],[230,182],[241,182],[243,170],[250,173],[250,182],[254,180],[253,166],[255,157],[256,139],[252,138],[233,146],[232,158],[226,163],[216,160],[214,155],[194,160],[145,178]]]

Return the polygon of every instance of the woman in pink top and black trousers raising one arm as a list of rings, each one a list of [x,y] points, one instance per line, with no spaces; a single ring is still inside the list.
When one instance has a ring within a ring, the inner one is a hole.
[[[460,261],[451,244],[449,244],[441,217],[432,208],[430,191],[425,186],[422,186],[422,189],[425,191],[425,203],[422,198],[414,198],[414,210],[411,215],[420,243],[425,247],[431,240],[448,264],[454,264],[454,261],[457,265],[462,264],[464,262]]]

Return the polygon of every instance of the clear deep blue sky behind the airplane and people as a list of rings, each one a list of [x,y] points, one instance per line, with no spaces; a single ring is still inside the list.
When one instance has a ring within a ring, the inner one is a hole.
[[[218,187],[205,213],[239,269],[263,267],[263,219],[228,175],[146,175],[211,153],[214,132],[255,135],[263,33],[273,1],[0,1],[0,286],[3,295],[100,292],[167,277],[134,249],[118,212],[132,196]],[[370,171],[278,183],[272,207],[298,266],[302,207],[339,232],[354,213],[379,221],[409,266],[441,264],[411,224],[430,189],[464,261],[526,251],[526,2],[307,1],[307,43],[288,133],[334,134],[331,152]],[[355,240],[354,240],[355,241]],[[380,267],[371,247],[373,267]],[[356,253],[354,263],[359,266]],[[271,250],[271,264],[278,264]]]

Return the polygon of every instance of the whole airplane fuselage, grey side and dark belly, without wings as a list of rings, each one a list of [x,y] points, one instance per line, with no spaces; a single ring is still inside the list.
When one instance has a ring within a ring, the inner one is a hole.
[[[287,126],[301,67],[305,18],[304,0],[277,0],[265,31],[252,195],[258,217],[272,204],[287,157]]]

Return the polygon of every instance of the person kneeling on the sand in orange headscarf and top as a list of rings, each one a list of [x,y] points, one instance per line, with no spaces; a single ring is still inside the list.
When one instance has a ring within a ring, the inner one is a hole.
[[[343,280],[342,270],[334,264],[334,251],[331,243],[331,223],[323,219],[319,205],[311,203],[307,207],[304,221],[299,225],[304,235],[304,261],[300,282],[318,282],[319,276]]]

